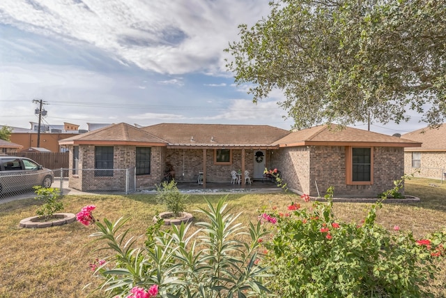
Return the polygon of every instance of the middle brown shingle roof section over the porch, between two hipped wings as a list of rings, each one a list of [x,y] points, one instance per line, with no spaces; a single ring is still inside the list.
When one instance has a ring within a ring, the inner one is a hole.
[[[169,147],[277,147],[290,132],[269,125],[155,124],[141,130],[169,142]]]

